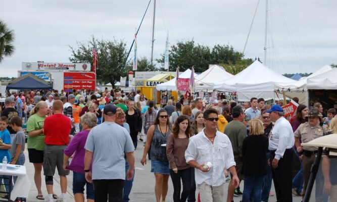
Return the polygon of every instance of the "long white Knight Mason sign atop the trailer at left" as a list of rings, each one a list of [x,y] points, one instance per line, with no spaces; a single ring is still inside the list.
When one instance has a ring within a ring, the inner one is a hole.
[[[91,71],[90,63],[22,63],[22,70]]]

